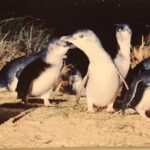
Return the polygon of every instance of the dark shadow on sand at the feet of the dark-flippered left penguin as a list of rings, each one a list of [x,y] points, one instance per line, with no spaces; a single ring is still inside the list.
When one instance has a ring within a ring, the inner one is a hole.
[[[66,102],[67,100],[63,99],[50,99],[49,100],[52,104],[60,104]],[[35,107],[27,106],[22,102],[17,103],[4,103],[0,105],[0,125],[7,120],[14,118],[13,123],[19,120],[20,118],[24,117],[30,112],[26,112],[27,110],[35,110],[36,108],[44,106],[43,100],[41,99],[30,99],[29,102],[31,104],[35,104]],[[25,114],[19,116],[21,113],[25,112]],[[19,116],[19,117],[17,117]]]

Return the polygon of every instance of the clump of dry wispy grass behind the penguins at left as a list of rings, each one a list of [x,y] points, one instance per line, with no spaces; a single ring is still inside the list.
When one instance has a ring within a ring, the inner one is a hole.
[[[0,20],[0,62],[3,66],[21,55],[40,51],[48,44],[54,28],[32,17]]]

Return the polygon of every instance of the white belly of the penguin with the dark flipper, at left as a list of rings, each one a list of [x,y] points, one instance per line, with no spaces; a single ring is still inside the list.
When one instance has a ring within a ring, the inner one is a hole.
[[[58,79],[60,69],[50,67],[33,81],[31,95],[41,95],[47,92]]]

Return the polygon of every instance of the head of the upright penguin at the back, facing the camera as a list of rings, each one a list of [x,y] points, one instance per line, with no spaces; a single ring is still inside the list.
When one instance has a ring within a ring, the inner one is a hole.
[[[116,28],[116,37],[118,41],[130,41],[132,31],[127,24],[119,24]]]

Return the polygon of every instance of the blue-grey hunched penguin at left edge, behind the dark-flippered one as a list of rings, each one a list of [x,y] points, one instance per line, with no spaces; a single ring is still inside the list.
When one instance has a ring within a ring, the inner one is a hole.
[[[2,88],[6,88],[10,91],[15,91],[18,82],[18,76],[20,75],[21,71],[29,63],[44,55],[45,52],[46,50],[43,49],[38,53],[34,53],[29,56],[22,56],[8,62],[0,71],[0,90]]]

